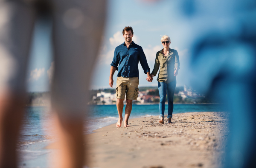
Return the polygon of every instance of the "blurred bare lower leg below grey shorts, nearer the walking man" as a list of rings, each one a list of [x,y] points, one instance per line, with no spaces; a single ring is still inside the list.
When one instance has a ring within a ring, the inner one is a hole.
[[[84,165],[83,118],[70,119],[58,113],[53,117],[58,134],[58,158],[53,158],[55,168],[82,168]]]

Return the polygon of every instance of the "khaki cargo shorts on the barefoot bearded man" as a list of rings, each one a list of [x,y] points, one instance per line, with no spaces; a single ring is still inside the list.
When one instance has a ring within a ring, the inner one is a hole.
[[[128,100],[137,100],[139,95],[139,78],[138,77],[117,77],[116,80],[116,98]]]

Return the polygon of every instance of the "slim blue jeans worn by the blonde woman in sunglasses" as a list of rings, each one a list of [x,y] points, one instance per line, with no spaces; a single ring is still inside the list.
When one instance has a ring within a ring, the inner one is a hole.
[[[166,90],[167,90],[167,98],[168,98],[168,116],[167,118],[172,118],[172,111],[173,111],[173,95],[174,90],[176,87],[176,80],[166,84],[164,82],[158,82],[158,91],[160,95],[160,103],[159,103],[159,110],[160,115],[159,118],[164,118],[164,103],[166,101]]]

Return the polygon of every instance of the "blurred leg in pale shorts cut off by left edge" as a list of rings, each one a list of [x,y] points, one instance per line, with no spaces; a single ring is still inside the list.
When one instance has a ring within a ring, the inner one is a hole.
[[[35,13],[22,0],[0,0],[0,168],[17,167],[26,62]]]

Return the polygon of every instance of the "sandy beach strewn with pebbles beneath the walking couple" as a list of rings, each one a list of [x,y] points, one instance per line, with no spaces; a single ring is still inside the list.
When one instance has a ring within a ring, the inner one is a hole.
[[[132,115],[132,113],[131,113]],[[167,118],[166,118],[167,119]],[[226,112],[174,114],[172,124],[158,116],[130,119],[87,134],[89,168],[219,168],[229,134]],[[167,120],[165,120],[167,121]]]

